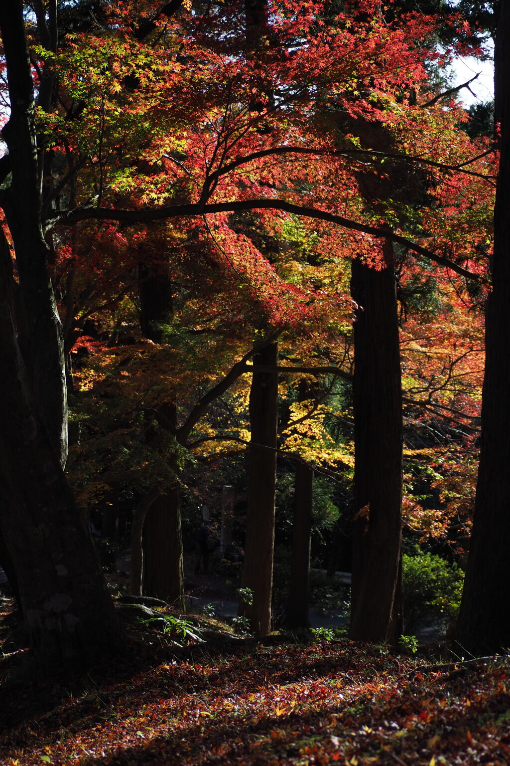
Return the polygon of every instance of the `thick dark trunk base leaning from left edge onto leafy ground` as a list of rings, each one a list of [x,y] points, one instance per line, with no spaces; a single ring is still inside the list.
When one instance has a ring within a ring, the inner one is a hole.
[[[32,656],[44,673],[118,644],[115,613],[85,520],[31,396],[0,270],[0,525],[15,568]]]

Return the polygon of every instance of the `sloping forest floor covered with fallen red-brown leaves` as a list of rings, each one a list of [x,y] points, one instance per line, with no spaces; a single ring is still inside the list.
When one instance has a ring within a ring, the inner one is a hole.
[[[506,658],[210,635],[132,637],[115,665],[50,686],[15,681],[5,656],[0,764],[510,763]]]

